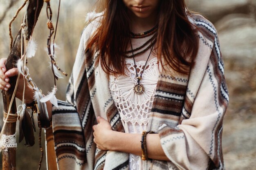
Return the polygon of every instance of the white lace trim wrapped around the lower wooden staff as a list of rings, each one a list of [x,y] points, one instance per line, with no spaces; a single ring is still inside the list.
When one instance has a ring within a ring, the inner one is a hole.
[[[7,151],[8,148],[17,148],[16,133],[13,135],[2,135],[0,139],[0,150]]]

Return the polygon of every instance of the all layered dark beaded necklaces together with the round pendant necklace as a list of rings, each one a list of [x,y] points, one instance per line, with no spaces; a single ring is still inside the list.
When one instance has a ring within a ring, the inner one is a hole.
[[[135,71],[136,71],[136,78],[137,78],[137,84],[134,85],[134,92],[137,93],[137,94],[142,94],[144,92],[144,86],[141,84],[140,80],[142,79],[142,75],[144,73],[144,70],[146,68],[146,64],[148,62],[148,59],[150,57],[150,54],[152,53],[152,50],[153,50],[153,46],[156,42],[156,31],[157,31],[157,26],[155,26],[153,29],[150,29],[149,31],[146,31],[144,33],[130,33],[130,46],[131,46],[131,50],[129,51],[126,51],[126,53],[132,53],[132,55],[125,55],[125,57],[128,57],[128,58],[133,58],[133,61],[134,61],[134,66],[135,66]],[[153,35],[154,34],[154,35]],[[150,35],[153,35],[148,41],[146,41],[144,44],[142,44],[141,46],[137,47],[136,49],[133,49],[132,48],[132,40],[131,38],[145,38],[145,37],[148,37]],[[147,46],[147,47],[146,47]],[[146,47],[146,48],[145,48]],[[144,49],[143,49],[144,48]],[[143,49],[143,50],[141,50]],[[146,60],[146,63],[145,63],[145,66],[141,72],[140,75],[138,75],[138,72],[137,72],[137,66],[136,66],[136,63],[135,63],[135,56],[139,55],[139,54],[142,54],[144,52],[146,52],[148,49],[150,49],[150,53],[148,55],[148,58]],[[141,51],[139,51],[141,50]],[[136,53],[135,53],[136,52]]]

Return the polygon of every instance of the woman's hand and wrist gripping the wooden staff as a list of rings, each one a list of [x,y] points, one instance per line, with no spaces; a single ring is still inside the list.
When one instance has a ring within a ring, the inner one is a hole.
[[[11,84],[9,84],[9,77],[17,76],[19,74],[18,68],[11,68],[10,70],[7,71],[5,67],[5,62],[6,58],[0,59],[0,89],[4,91],[8,91],[9,88],[11,87]],[[30,86],[25,79],[25,84],[24,84],[24,79],[23,75],[20,75],[17,91],[15,97],[18,99],[22,100],[22,94],[23,94],[23,87],[25,85],[25,103],[29,104],[33,102],[33,87]]]

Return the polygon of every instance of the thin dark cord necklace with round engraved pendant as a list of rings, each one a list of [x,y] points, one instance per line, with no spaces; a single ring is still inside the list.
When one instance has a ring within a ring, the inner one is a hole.
[[[150,53],[148,55],[148,58],[146,60],[146,63],[145,63],[145,66],[141,72],[141,75],[138,76],[138,73],[137,73],[137,66],[136,66],[136,63],[135,63],[135,59],[134,59],[134,54],[133,54],[133,49],[132,49],[132,40],[130,39],[130,46],[131,46],[131,49],[132,49],[132,55],[133,55],[133,62],[134,62],[134,66],[135,66],[135,71],[136,71],[136,78],[137,78],[137,84],[134,85],[134,88],[133,88],[133,91],[137,94],[142,94],[144,92],[144,86],[140,83],[140,80],[141,80],[141,77],[142,77],[142,74],[145,70],[145,67],[147,65],[147,62],[148,62],[148,59],[149,59],[149,56],[152,52],[152,49],[153,49],[153,42],[151,43],[152,46],[151,46],[151,49],[150,49]]]

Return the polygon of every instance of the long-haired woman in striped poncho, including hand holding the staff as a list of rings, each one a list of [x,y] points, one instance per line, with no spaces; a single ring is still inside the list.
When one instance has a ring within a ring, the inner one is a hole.
[[[214,26],[184,0],[104,5],[81,36],[67,102],[47,102],[58,169],[225,169],[228,92]],[[4,63],[8,90],[18,72]]]

